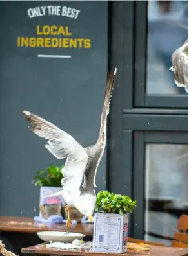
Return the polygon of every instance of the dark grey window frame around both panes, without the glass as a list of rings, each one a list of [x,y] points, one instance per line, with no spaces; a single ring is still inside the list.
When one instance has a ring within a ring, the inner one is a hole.
[[[188,95],[146,95],[148,2],[108,5],[108,67],[118,72],[108,117],[107,189],[137,200],[129,235],[144,239],[146,138],[171,143],[174,134],[172,143],[188,144]]]

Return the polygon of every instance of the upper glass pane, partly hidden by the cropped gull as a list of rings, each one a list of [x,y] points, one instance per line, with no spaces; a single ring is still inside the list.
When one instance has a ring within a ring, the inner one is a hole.
[[[174,82],[172,54],[188,38],[188,1],[148,3],[148,94],[185,94]]]

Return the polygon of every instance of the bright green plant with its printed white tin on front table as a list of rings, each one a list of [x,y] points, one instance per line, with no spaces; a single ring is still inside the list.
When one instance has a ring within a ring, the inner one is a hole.
[[[129,196],[109,191],[98,192],[94,218],[94,251],[126,252],[129,213],[134,211],[136,203]]]

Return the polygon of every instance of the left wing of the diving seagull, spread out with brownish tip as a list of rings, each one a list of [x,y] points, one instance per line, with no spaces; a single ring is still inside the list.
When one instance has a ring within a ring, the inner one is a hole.
[[[54,124],[28,111],[23,111],[23,114],[31,124],[32,132],[48,140],[45,145],[48,151],[58,159],[67,158],[63,169],[63,174],[66,176],[63,179],[63,184],[66,187],[70,184],[70,187],[74,182],[73,189],[79,189],[88,162],[88,155],[84,148],[71,135],[57,128]],[[77,180],[76,183],[75,180]]]

